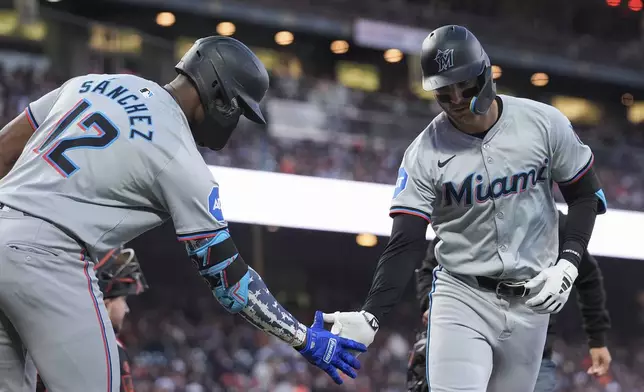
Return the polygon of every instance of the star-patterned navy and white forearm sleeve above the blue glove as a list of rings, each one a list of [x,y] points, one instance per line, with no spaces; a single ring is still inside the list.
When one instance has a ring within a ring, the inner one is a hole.
[[[306,327],[277,302],[257,272],[252,268],[249,272],[248,305],[239,314],[252,325],[293,347],[303,344]]]

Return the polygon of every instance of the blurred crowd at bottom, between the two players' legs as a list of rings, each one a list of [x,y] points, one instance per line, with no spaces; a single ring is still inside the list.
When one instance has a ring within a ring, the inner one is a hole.
[[[293,348],[226,315],[213,298],[198,312],[164,307],[132,316],[122,337],[138,392],[375,392],[405,385],[410,341],[396,332],[383,331],[375,351],[361,358],[360,376],[334,388]]]

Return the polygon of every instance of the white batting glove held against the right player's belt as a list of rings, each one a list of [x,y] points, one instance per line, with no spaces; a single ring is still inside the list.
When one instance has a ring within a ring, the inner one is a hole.
[[[568,260],[560,259],[557,264],[544,269],[525,284],[525,288],[531,291],[542,286],[536,296],[526,301],[526,306],[536,313],[559,313],[568,301],[577,275],[577,267]]]

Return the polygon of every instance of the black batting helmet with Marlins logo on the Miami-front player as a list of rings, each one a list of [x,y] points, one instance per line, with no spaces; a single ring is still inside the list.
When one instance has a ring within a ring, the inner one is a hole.
[[[485,114],[496,97],[490,59],[478,39],[463,26],[448,25],[429,33],[421,51],[423,88],[432,91],[477,78],[474,114]]]

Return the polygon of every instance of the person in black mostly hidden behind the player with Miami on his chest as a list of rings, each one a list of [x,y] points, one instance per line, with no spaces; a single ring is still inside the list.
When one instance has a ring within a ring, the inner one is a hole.
[[[559,238],[563,238],[566,227],[566,215],[559,212]],[[438,267],[434,248],[438,243],[434,239],[427,249],[427,255],[422,267],[417,271],[417,294],[423,314],[423,323],[427,326],[429,316],[429,293],[431,292],[433,277],[432,271]],[[563,245],[559,244],[560,246]],[[584,252],[579,263],[579,277],[575,280],[577,299],[581,310],[584,330],[588,336],[588,346],[592,366],[588,374],[603,376],[608,372],[611,355],[606,347],[606,333],[610,329],[610,317],[606,309],[606,293],[604,292],[603,276],[597,260],[588,252]],[[552,361],[553,340],[555,338],[554,322],[556,317],[550,317],[546,346],[543,350],[539,376],[535,392],[553,392],[556,387],[556,364]],[[414,345],[407,372],[407,386],[410,392],[427,391],[426,369],[426,341],[427,335],[420,336]]]

